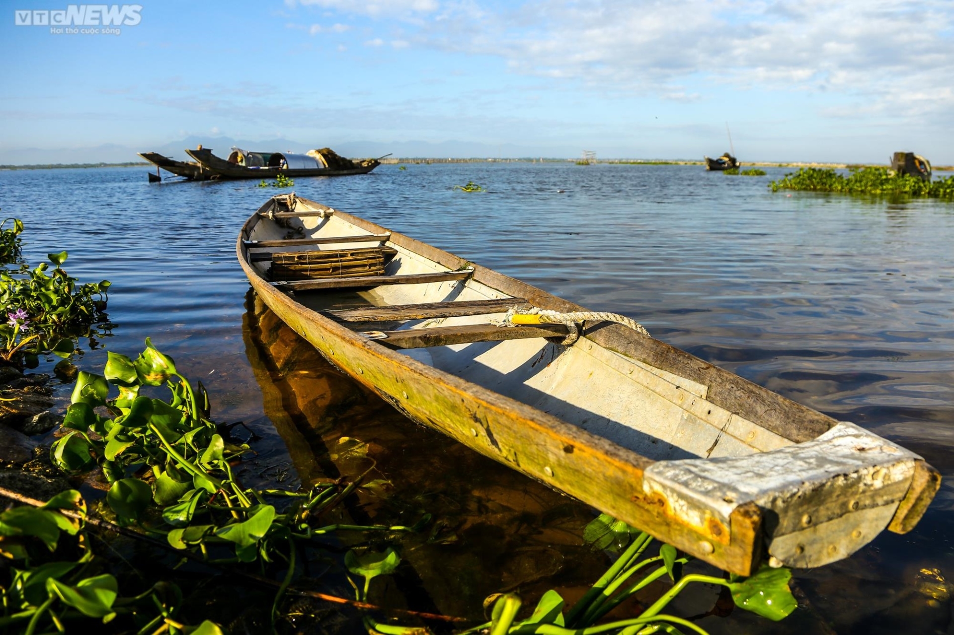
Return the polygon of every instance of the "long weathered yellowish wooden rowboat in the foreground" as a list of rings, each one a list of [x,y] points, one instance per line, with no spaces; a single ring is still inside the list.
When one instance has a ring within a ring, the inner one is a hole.
[[[740,575],[909,531],[940,485],[853,423],[296,195],[237,252],[282,320],[412,420]]]

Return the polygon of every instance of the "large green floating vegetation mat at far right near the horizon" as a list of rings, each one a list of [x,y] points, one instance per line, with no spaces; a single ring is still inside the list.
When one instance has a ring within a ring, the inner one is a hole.
[[[924,181],[909,174],[895,174],[887,168],[863,168],[848,176],[824,168],[801,168],[769,183],[778,190],[840,192],[842,194],[928,196],[954,198],[954,176]]]

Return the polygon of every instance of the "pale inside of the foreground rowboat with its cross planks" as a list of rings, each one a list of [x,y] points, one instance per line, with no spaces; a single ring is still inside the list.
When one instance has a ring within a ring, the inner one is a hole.
[[[262,208],[246,226],[251,266],[301,305],[409,358],[655,461],[744,457],[794,443],[719,407],[705,385],[589,338],[565,345],[563,324],[501,325],[508,309],[530,304],[475,279],[472,267],[451,270],[403,246],[406,239],[398,244],[302,199],[287,210]]]

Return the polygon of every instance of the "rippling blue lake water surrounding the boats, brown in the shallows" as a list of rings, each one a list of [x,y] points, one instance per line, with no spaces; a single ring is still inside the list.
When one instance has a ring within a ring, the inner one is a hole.
[[[954,203],[772,194],[766,184],[786,170],[767,172],[384,165],[298,179],[294,190],[635,318],[656,338],[901,442],[948,477]],[[452,189],[468,180],[487,192]],[[145,168],[0,172],[2,214],[23,219],[28,261],[65,249],[72,276],[114,283],[116,326],[81,368],[101,369],[103,347],[135,355],[152,337],[209,387],[217,420],[243,420],[263,438],[247,478],[288,485],[354,475],[373,460],[380,486],[349,503],[351,518],[434,514],[427,536],[406,539],[409,564],[383,583],[382,598],[478,618],[484,596],[504,588],[528,603],[550,587],[581,592],[609,562],[581,543],[587,507],[404,420],[256,306],[235,241],[277,192],[254,182],[149,184]],[[949,632],[954,587],[938,576],[954,572],[952,501],[945,481],[910,534],[884,533],[846,561],[796,571],[810,608],[778,625],[740,610],[699,625]],[[679,614],[704,613],[714,599],[699,590]]]

